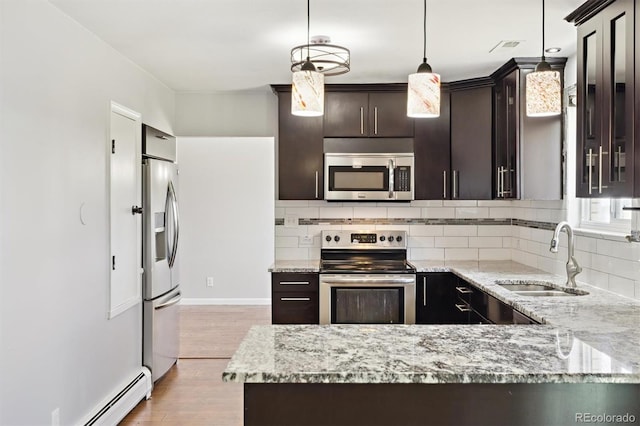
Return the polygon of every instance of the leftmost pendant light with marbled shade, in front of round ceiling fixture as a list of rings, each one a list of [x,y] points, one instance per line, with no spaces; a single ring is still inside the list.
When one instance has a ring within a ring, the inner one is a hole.
[[[309,59],[309,0],[307,0],[307,59],[300,71],[293,73],[291,84],[291,114],[318,117],[324,114],[324,75]]]

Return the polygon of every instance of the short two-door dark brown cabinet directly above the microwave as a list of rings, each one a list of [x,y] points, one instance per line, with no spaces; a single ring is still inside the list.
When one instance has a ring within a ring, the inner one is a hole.
[[[406,84],[325,88],[325,137],[413,137]]]

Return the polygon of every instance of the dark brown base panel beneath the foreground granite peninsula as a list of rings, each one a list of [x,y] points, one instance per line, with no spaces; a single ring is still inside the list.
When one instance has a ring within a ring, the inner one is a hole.
[[[638,401],[640,384],[245,383],[244,424],[540,426],[590,423],[585,418],[601,414],[635,423]]]

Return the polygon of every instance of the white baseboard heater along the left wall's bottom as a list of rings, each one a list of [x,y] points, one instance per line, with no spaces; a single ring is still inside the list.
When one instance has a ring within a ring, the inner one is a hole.
[[[85,426],[117,425],[143,398],[151,396],[152,388],[151,371],[142,367],[141,373],[107,402]]]

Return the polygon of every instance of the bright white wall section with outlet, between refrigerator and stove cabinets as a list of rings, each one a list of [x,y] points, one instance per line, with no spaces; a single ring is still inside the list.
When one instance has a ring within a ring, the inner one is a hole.
[[[270,303],[274,151],[273,137],[178,138],[184,303]]]

